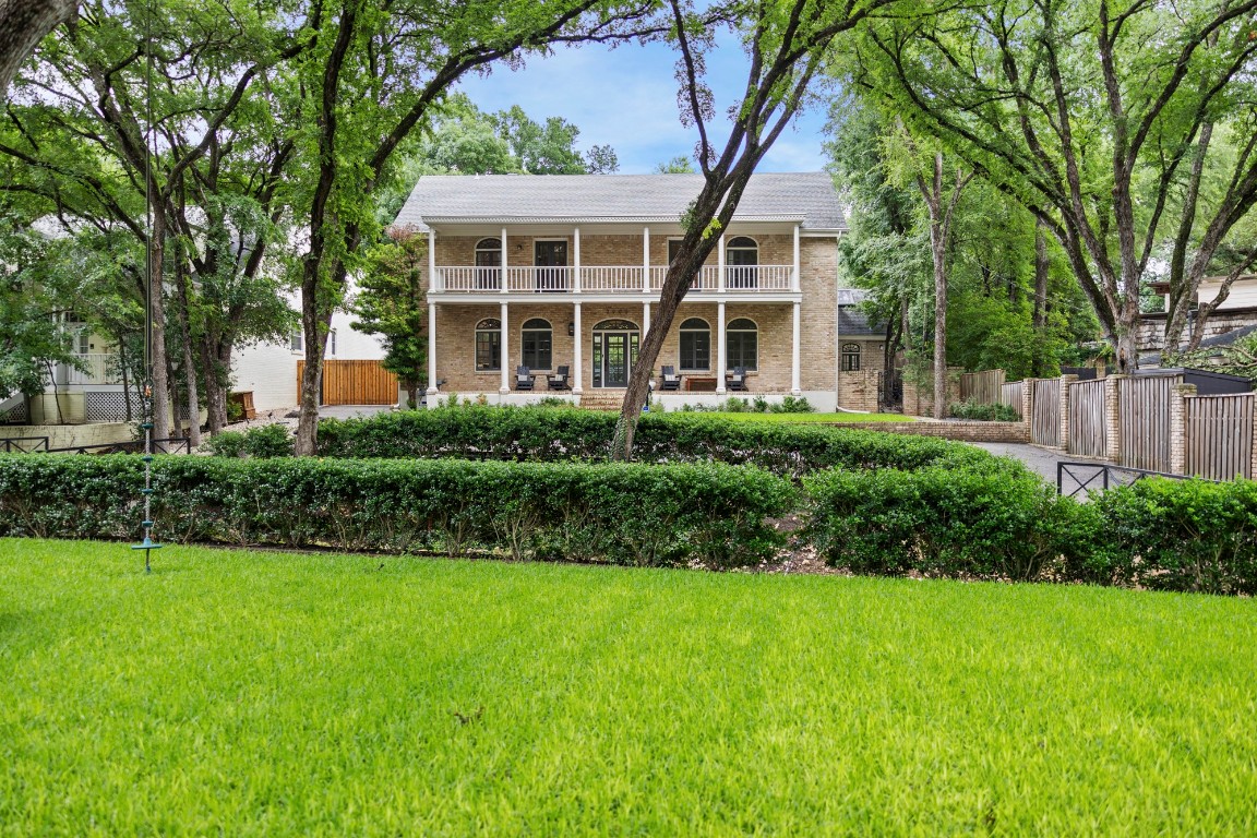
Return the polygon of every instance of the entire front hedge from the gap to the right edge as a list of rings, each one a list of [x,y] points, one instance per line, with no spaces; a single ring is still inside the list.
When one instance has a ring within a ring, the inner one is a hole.
[[[807,477],[806,536],[856,573],[1257,594],[1257,484],[1148,479],[1057,498],[1027,475],[930,466]]]

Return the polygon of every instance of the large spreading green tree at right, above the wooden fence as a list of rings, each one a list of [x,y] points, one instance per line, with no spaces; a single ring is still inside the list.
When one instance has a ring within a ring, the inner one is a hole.
[[[850,79],[1055,235],[1125,369],[1151,260],[1170,251],[1173,330],[1257,200],[1254,10],[959,4],[869,26]]]

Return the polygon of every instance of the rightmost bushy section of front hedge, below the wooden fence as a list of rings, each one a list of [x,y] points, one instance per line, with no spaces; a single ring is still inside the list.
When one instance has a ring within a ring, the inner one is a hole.
[[[1149,477],[1104,492],[1096,564],[1117,584],[1257,594],[1257,482]]]

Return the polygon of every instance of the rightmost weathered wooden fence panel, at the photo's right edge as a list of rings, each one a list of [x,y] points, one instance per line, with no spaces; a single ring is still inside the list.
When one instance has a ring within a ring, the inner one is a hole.
[[[1253,393],[1188,396],[1187,472],[1209,480],[1252,477]]]

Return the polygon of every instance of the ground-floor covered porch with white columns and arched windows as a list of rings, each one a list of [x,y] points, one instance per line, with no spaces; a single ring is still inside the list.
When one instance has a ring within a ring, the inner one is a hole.
[[[538,300],[429,307],[429,403],[442,393],[498,401],[598,395],[616,398],[639,363],[657,304]],[[685,303],[652,369],[656,395],[725,397],[730,376],[759,395],[802,393],[799,304]],[[520,378],[520,367],[528,378]],[[678,377],[662,392],[661,368]],[[510,397],[510,398],[505,398]]]

